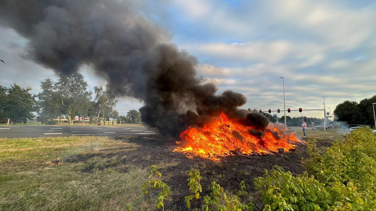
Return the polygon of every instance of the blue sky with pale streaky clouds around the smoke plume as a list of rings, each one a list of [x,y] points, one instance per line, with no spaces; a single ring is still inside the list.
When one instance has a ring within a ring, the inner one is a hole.
[[[344,100],[376,95],[376,3],[374,1],[145,1],[144,13],[171,35],[179,48],[197,57],[197,70],[219,92],[247,96],[244,108],[327,109]],[[22,57],[27,41],[0,28],[0,84],[18,83],[39,92],[39,81],[57,78]],[[105,85],[89,67],[89,86]],[[120,98],[124,115],[142,102]],[[328,109],[329,110],[329,109]],[[305,116],[323,117],[320,112]],[[280,113],[280,116],[283,114]],[[290,113],[290,116],[300,116]]]

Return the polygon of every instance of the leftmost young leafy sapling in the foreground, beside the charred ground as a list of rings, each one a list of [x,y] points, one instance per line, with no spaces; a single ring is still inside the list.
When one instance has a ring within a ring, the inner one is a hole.
[[[156,165],[150,166],[150,172],[152,173],[149,178],[153,178],[142,185],[143,194],[146,195],[149,193],[150,190],[157,189],[158,198],[157,198],[157,208],[164,211],[164,200],[170,194],[170,187],[160,179],[162,177],[161,172],[157,170]]]

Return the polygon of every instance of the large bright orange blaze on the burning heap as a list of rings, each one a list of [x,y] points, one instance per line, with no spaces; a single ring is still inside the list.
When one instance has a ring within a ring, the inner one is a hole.
[[[234,154],[273,154],[278,152],[278,148],[289,151],[301,142],[295,134],[284,134],[280,128],[268,128],[262,137],[250,134],[249,130],[252,129],[254,128],[230,120],[222,113],[220,118],[202,128],[190,127],[183,131],[180,134],[183,141],[176,143],[184,146],[179,146],[174,151],[183,152],[189,158],[199,156],[219,161],[220,157]],[[282,138],[279,139],[273,133]]]

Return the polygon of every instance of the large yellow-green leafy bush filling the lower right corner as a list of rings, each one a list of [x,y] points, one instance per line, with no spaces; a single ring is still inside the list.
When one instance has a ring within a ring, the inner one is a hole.
[[[308,144],[307,172],[293,176],[278,166],[255,178],[264,210],[374,210],[376,209],[376,144],[369,128],[346,140],[335,140],[326,152],[315,140]]]

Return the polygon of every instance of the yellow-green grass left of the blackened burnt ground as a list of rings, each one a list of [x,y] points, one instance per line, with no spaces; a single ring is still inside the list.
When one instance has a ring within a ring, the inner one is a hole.
[[[140,197],[148,170],[121,159],[137,148],[106,137],[0,139],[0,210],[154,209]],[[63,164],[50,165],[57,157]]]

